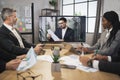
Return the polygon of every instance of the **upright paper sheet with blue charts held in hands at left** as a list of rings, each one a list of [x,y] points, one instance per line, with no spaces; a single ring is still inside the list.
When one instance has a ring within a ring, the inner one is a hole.
[[[17,71],[25,71],[31,68],[37,62],[37,55],[34,52],[33,47],[27,52],[26,58],[24,58],[19,64]]]

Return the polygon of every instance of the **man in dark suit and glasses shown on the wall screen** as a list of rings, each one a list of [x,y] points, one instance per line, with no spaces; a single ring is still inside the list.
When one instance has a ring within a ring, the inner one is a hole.
[[[56,36],[58,36],[58,38],[61,39],[61,41],[73,42],[74,30],[72,30],[67,26],[66,18],[63,18],[63,17],[60,18],[58,24],[60,27],[57,28],[55,31]],[[51,35],[48,34],[47,37],[50,39]]]

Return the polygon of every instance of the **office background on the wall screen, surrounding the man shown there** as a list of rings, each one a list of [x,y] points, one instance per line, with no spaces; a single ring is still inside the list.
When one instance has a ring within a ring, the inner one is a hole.
[[[59,19],[67,19],[67,27],[74,31],[74,41],[65,42],[85,42],[86,38],[86,17],[85,16],[39,16],[39,41],[50,42],[47,37],[48,29],[56,31],[59,28]]]

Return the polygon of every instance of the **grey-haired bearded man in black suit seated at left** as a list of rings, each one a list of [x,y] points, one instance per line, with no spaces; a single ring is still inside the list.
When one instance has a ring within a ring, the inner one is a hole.
[[[41,44],[35,46],[26,42],[14,28],[17,21],[15,10],[3,8],[1,17],[4,23],[0,27],[0,48],[16,56],[26,54],[31,46],[34,47],[36,53],[41,51]]]

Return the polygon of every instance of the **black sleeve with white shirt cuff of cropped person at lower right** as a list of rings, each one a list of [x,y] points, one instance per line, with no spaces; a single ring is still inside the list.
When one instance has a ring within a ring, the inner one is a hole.
[[[98,68],[100,71],[120,75],[120,56],[111,57],[111,61],[93,60],[93,67]]]

